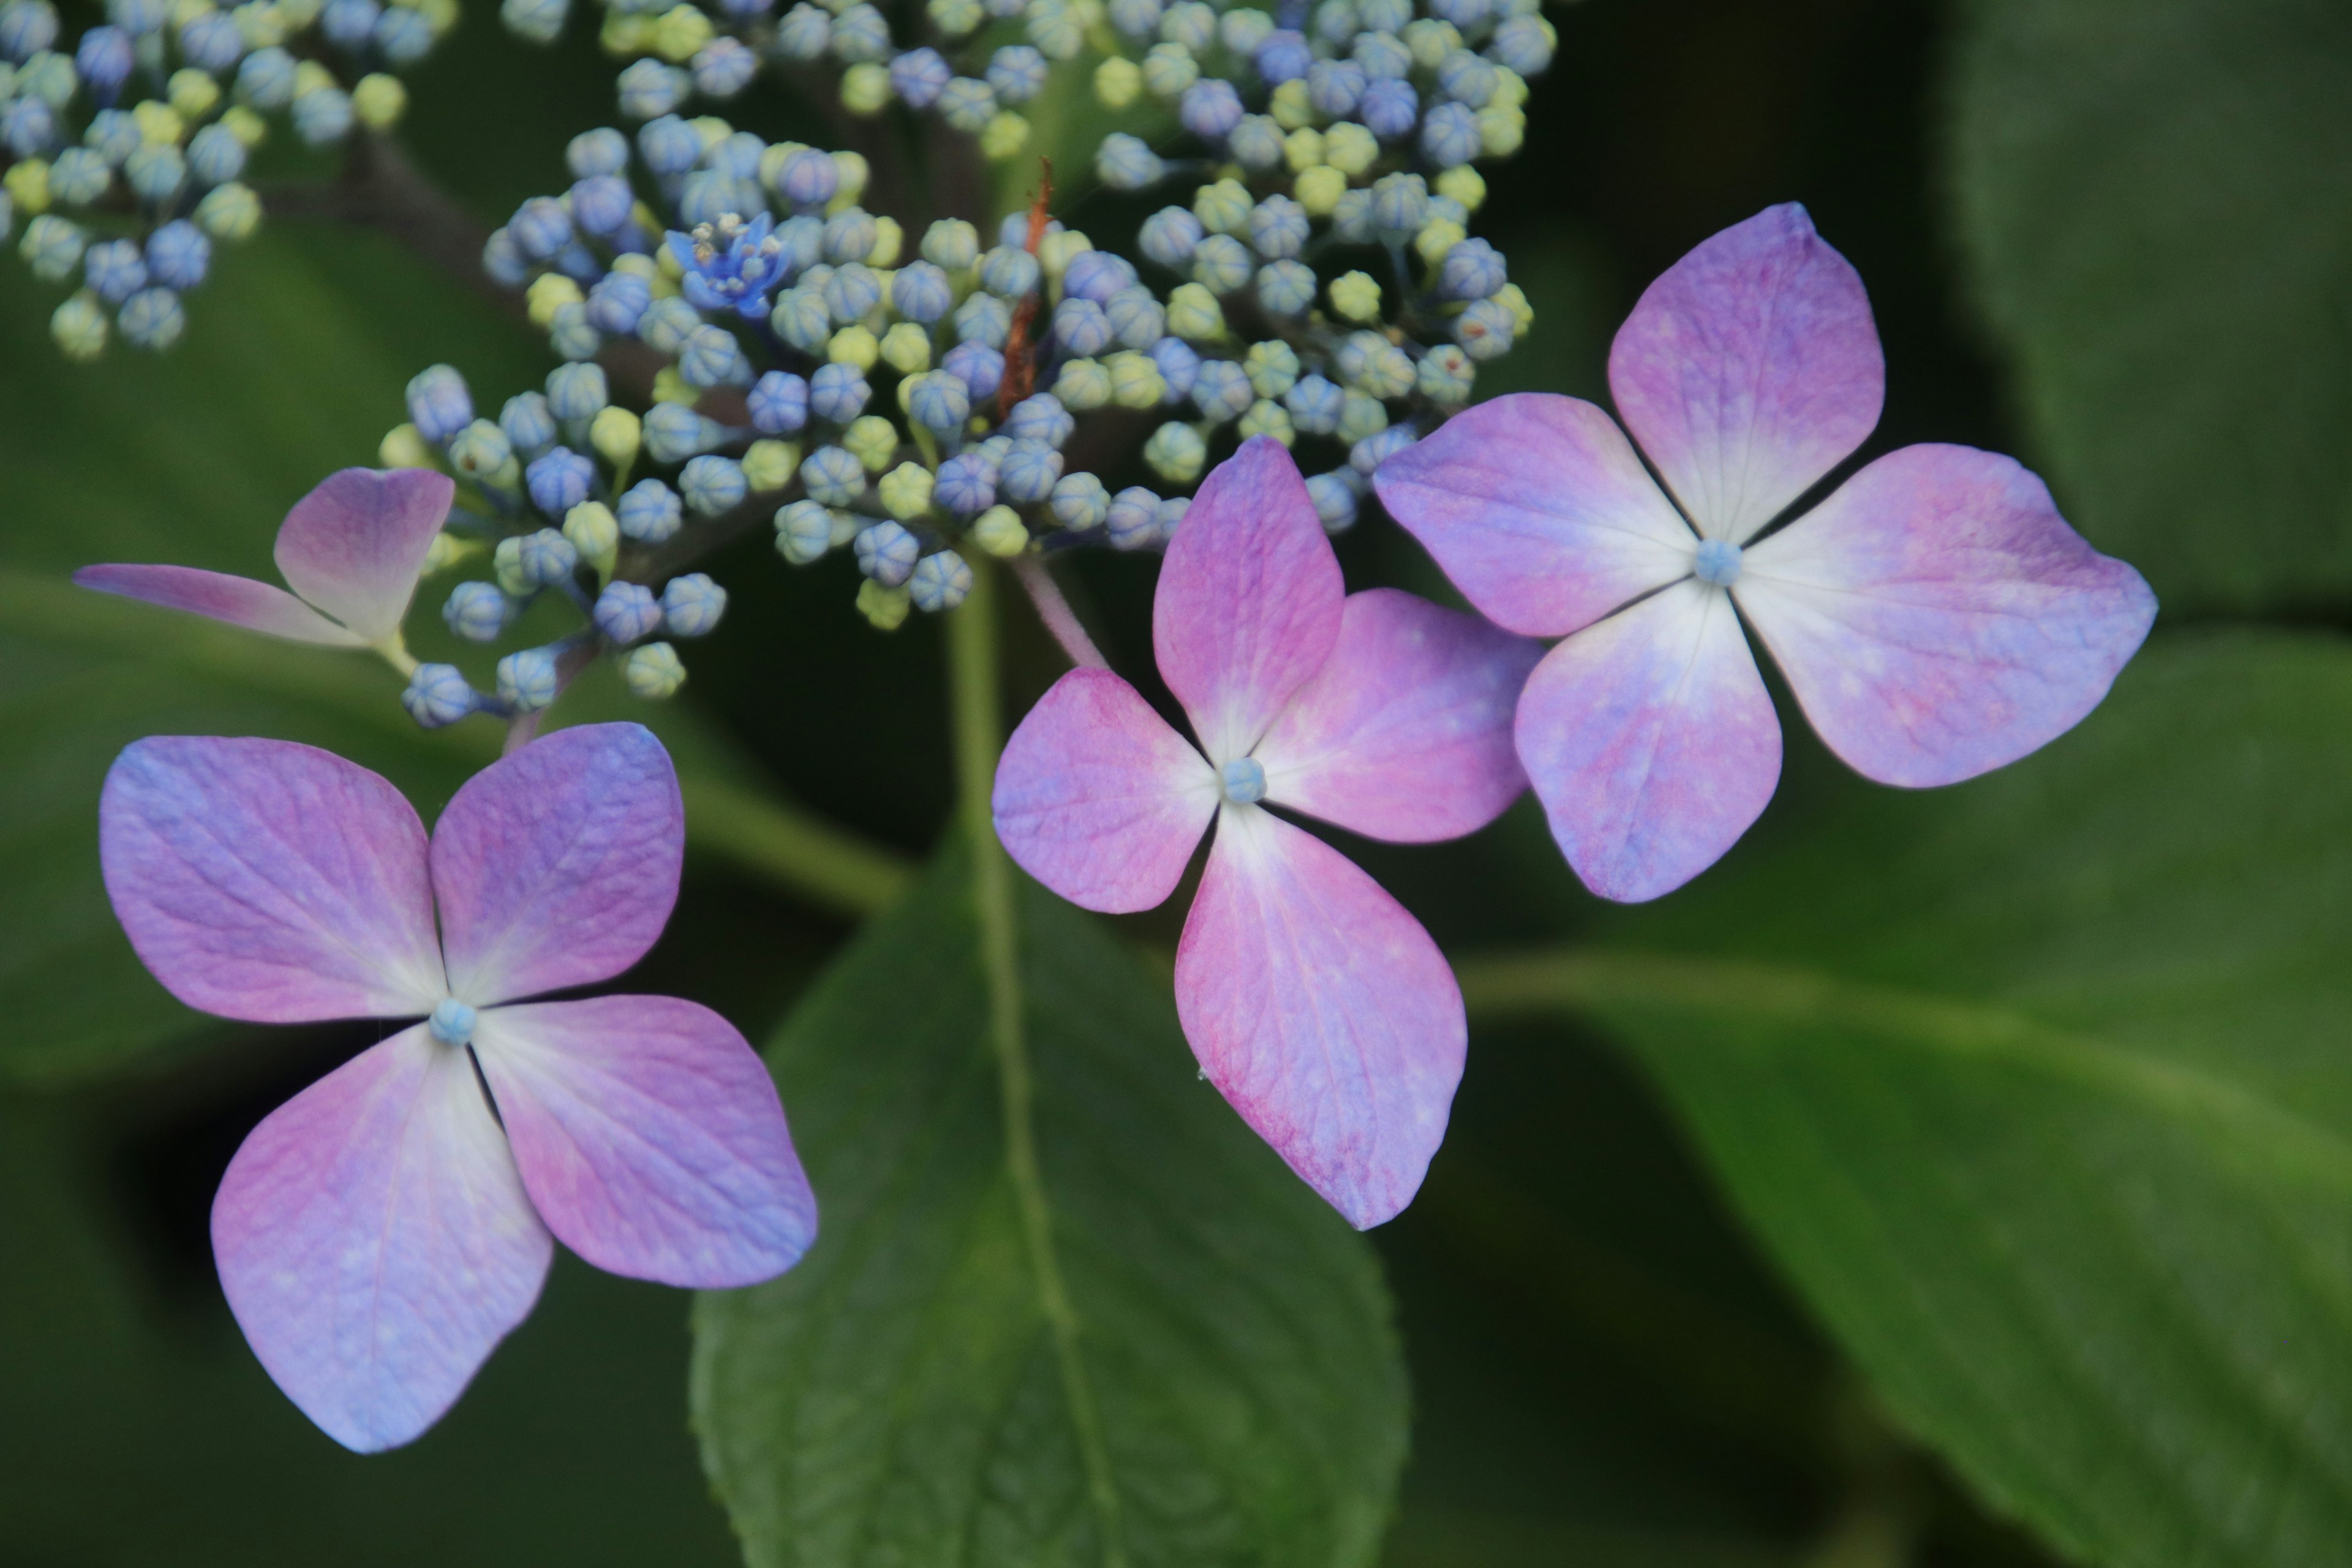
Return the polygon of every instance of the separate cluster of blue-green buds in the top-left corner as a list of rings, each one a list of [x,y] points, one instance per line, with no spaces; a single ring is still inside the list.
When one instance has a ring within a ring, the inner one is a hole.
[[[393,73],[456,19],[456,0],[108,0],[68,40],[52,0],[0,0],[0,240],[73,289],[56,346],[176,343],[212,247],[261,223],[245,165],[273,120],[310,146],[388,132]]]

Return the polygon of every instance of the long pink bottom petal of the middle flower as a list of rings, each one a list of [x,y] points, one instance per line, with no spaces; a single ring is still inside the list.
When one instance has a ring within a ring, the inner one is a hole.
[[[1176,1013],[1218,1093],[1350,1225],[1414,1201],[1463,1077],[1463,997],[1345,856],[1258,806],[1221,813]]]

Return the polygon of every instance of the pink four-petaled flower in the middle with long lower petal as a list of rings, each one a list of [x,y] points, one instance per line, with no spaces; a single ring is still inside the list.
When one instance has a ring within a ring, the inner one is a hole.
[[[1160,675],[1195,750],[1110,670],[1073,670],[997,764],[997,837],[1049,889],[1148,910],[1216,844],[1176,950],[1209,1081],[1352,1225],[1404,1208],[1444,1138],[1463,1001],[1428,931],[1265,806],[1425,844],[1524,788],[1510,712],[1541,649],[1406,592],[1348,595],[1298,468],[1256,437],[1160,569]]]

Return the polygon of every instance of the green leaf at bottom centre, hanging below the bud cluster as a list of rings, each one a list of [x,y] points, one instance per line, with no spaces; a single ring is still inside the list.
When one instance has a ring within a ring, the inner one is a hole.
[[[750,1561],[1369,1563],[1406,1422],[1371,1251],[1197,1079],[1167,980],[1021,882],[1037,1159],[1124,1535],[1105,1549],[971,907],[950,851],[769,1048],[823,1234],[781,1281],[701,1298],[691,1380]]]

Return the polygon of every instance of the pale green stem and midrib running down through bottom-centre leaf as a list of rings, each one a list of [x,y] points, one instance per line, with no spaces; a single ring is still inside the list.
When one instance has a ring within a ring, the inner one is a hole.
[[[1087,1493],[1103,1533],[1105,1568],[1127,1568],[1120,1533],[1120,1488],[1110,1474],[1103,1418],[1094,1408],[1087,1361],[1080,1349],[1077,1309],[1054,1255],[1054,1215],[1037,1171],[1037,1121],[1033,1107],[1028,1037],[1021,1009],[1021,952],[1014,910],[1014,867],[997,844],[988,792],[1004,750],[1004,712],[997,698],[997,574],[988,559],[971,562],[971,597],[948,616],[948,689],[955,715],[955,773],[964,844],[971,851],[971,903],[981,926],[981,971],[988,978],[988,1034],[997,1053],[997,1086],[1004,1112],[1004,1166],[1021,1208],[1037,1307],[1054,1338],[1061,1392],[1087,1467]]]

